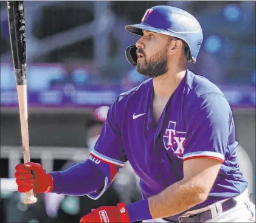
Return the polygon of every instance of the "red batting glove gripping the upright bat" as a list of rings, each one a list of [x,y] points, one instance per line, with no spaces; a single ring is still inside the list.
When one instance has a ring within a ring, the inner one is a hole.
[[[25,163],[15,166],[18,191],[25,193],[33,189],[34,194],[49,193],[54,187],[52,176],[44,171],[40,163]],[[33,175],[31,174],[33,170]]]

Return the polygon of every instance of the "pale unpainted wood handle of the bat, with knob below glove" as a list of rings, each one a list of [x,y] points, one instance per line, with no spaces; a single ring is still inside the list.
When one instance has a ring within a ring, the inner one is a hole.
[[[17,85],[18,102],[19,102],[19,119],[21,121],[21,139],[24,163],[30,162],[29,150],[29,123],[27,115],[27,85]],[[24,204],[34,204],[36,197],[33,190],[25,193]]]

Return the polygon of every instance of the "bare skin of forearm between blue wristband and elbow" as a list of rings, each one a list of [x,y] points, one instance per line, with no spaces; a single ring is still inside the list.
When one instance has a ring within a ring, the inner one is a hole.
[[[205,201],[207,191],[199,179],[181,180],[161,193],[150,197],[148,204],[153,219],[182,213]]]

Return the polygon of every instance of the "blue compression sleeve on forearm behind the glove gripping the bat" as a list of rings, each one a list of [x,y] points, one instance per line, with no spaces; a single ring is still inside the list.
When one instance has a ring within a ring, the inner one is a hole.
[[[50,174],[54,179],[52,193],[72,196],[82,196],[100,190],[105,181],[105,175],[91,160]]]

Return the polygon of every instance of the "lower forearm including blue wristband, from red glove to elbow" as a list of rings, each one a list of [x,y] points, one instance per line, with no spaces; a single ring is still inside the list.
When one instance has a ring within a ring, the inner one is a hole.
[[[159,194],[127,205],[131,222],[167,218],[203,202],[209,191],[199,177],[181,180]]]

